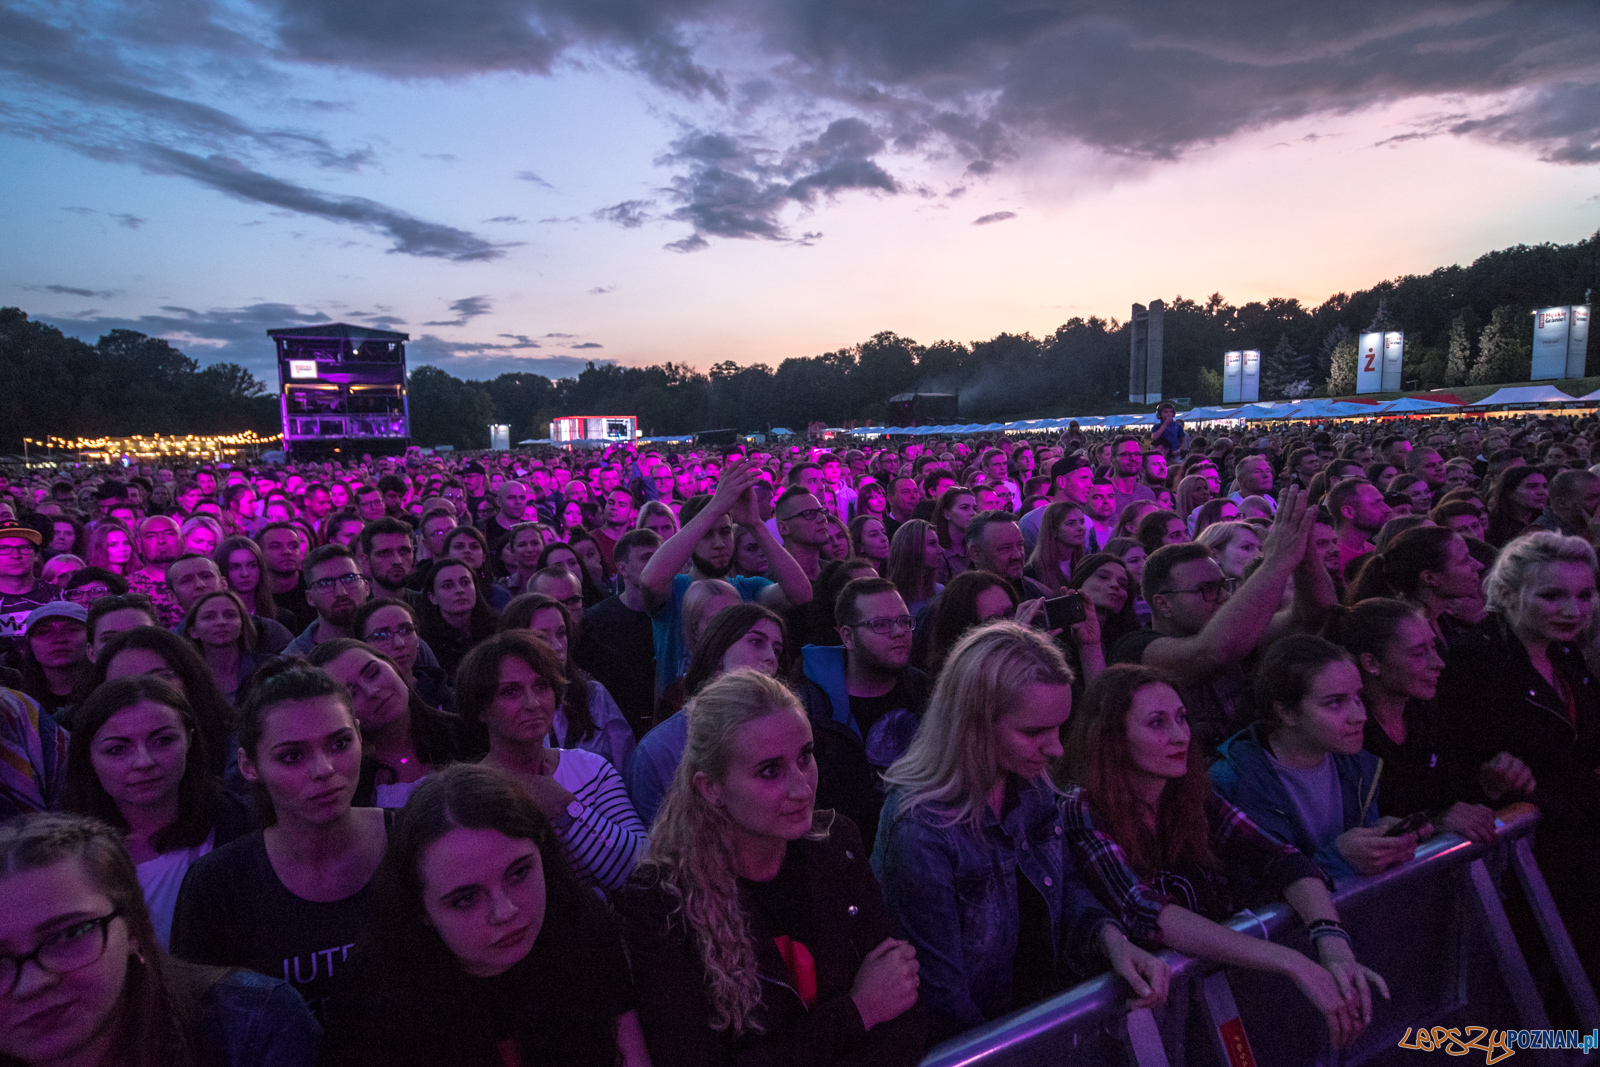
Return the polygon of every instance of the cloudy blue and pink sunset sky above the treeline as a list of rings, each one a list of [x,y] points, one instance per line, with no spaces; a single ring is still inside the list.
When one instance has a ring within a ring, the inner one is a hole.
[[[1048,334],[1600,229],[1594,0],[0,0],[0,306],[275,386]]]

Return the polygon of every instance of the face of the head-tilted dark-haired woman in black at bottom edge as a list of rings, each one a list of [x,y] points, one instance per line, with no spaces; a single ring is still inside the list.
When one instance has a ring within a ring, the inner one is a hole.
[[[504,974],[533,950],[546,904],[533,841],[454,827],[422,849],[416,873],[429,923],[467,974]]]

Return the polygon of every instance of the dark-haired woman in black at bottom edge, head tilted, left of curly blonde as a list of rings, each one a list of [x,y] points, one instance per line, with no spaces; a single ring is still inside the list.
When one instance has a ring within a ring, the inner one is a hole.
[[[621,939],[510,776],[458,765],[422,782],[376,881],[325,1067],[648,1065]]]

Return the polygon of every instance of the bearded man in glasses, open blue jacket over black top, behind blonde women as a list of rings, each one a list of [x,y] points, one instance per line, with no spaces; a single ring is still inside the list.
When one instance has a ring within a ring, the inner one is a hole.
[[[912,617],[894,582],[858,577],[834,616],[843,646],[806,645],[797,688],[816,742],[816,801],[877,837],[883,771],[917,733],[928,675],[910,665]]]

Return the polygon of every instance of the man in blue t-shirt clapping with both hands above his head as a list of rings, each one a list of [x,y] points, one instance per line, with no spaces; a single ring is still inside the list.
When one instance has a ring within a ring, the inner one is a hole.
[[[694,582],[725,579],[742,598],[760,600],[776,611],[811,601],[811,579],[762,525],[755,496],[750,493],[755,482],[757,472],[749,462],[728,464],[717,482],[715,496],[702,494],[683,502],[683,526],[650,557],[640,574],[640,590],[656,638],[658,694],[683,672],[686,653],[683,593]],[[770,565],[766,573],[778,579],[776,584],[765,577],[728,574],[733,569],[734,525],[747,528],[755,536],[766,552]],[[693,563],[690,573],[678,574],[685,563]]]

